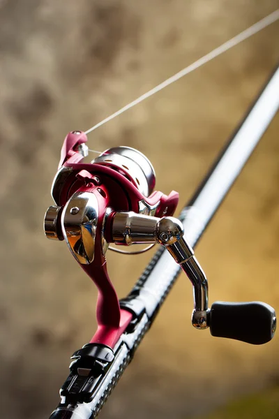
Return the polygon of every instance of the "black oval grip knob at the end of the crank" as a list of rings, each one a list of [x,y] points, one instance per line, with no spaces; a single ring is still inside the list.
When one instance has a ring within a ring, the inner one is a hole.
[[[212,336],[236,339],[248,344],[266,344],[276,330],[274,309],[264,302],[223,302],[212,304]]]

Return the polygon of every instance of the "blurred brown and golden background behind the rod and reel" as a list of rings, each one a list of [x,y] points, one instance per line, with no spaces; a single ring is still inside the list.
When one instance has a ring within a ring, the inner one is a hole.
[[[2,418],[48,418],[70,355],[96,330],[95,286],[65,243],[43,233],[65,135],[86,131],[278,4],[0,1]],[[179,191],[181,209],[276,66],[278,35],[272,24],[94,131],[89,147],[140,149],[156,189]],[[196,249],[210,302],[263,300],[279,311],[278,128],[277,116]],[[108,255],[120,296],[149,258]],[[279,337],[259,347],[213,338],[194,330],[192,309],[181,276],[100,418],[279,417]]]

